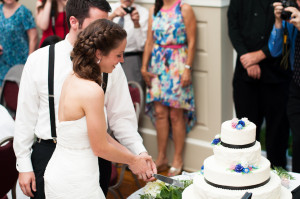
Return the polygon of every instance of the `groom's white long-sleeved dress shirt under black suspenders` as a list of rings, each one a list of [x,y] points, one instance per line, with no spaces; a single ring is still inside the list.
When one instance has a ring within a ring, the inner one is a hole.
[[[70,53],[73,46],[65,40],[55,45],[54,103],[56,124],[58,104],[63,82],[72,72]],[[36,135],[41,139],[52,139],[48,101],[48,57],[49,46],[32,53],[24,66],[18,96],[15,123],[14,150],[19,172],[33,171],[31,147]],[[120,64],[108,75],[105,93],[105,108],[111,130],[116,139],[132,153],[140,154],[146,149],[137,132],[137,119],[130,98],[127,80]]]

